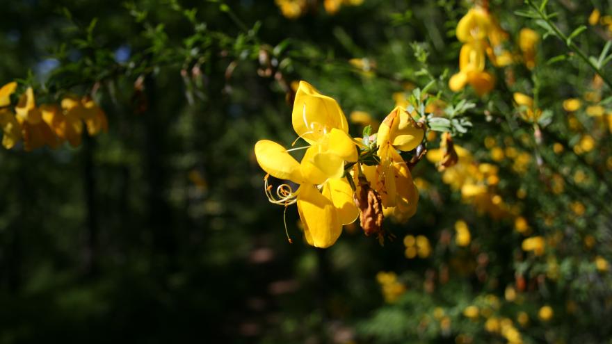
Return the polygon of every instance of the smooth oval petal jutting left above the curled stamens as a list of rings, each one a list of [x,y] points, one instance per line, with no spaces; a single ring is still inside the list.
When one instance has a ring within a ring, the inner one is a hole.
[[[288,179],[294,183],[302,183],[300,163],[296,161],[287,149],[270,140],[260,140],[255,144],[255,158],[261,169],[278,179]]]

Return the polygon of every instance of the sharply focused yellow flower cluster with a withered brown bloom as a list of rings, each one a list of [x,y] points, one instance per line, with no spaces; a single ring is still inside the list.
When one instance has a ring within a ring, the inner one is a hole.
[[[414,215],[419,193],[401,152],[417,148],[425,130],[404,108],[394,108],[377,134],[367,129],[363,138],[354,139],[337,102],[300,81],[292,123],[306,147],[285,149],[260,140],[255,157],[268,173],[264,188],[270,202],[297,204],[307,243],[330,247],[342,225],[357,218],[365,234],[382,240],[383,212],[403,218]],[[305,153],[298,162],[289,152],[300,149]],[[269,176],[289,183],[273,189]]]

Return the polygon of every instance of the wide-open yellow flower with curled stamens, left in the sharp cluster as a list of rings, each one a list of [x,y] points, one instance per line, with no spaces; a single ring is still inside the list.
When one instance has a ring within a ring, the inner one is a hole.
[[[255,144],[255,157],[268,174],[300,184],[300,188],[293,192],[283,184],[275,197],[266,181],[266,195],[275,204],[297,203],[307,243],[330,247],[340,236],[342,225],[359,215],[351,185],[344,179],[344,162],[357,161],[357,150],[337,102],[304,81],[296,93],[292,122],[298,136],[310,144],[301,163],[269,140]]]

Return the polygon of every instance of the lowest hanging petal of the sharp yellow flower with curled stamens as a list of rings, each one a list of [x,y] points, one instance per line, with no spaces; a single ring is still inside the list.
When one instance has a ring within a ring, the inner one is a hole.
[[[297,203],[304,232],[312,238],[312,245],[321,248],[334,245],[342,232],[342,224],[330,199],[321,195],[314,185],[303,184]]]

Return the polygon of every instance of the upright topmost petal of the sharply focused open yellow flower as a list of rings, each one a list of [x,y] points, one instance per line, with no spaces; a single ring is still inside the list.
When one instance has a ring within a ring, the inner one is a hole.
[[[291,115],[293,129],[298,136],[314,145],[333,128],[348,133],[348,122],[338,103],[321,95],[312,85],[300,81]]]

